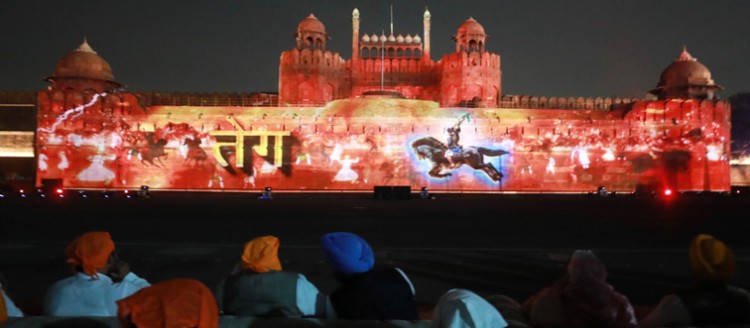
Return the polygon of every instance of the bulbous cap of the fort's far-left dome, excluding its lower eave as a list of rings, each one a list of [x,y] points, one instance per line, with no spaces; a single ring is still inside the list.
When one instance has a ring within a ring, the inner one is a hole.
[[[50,77],[78,78],[89,80],[115,81],[112,67],[91,49],[84,39],[83,43],[57,62],[54,74]]]

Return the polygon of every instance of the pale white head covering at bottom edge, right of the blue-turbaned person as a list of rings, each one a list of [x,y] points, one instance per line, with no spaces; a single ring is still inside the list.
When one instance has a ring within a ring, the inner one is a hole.
[[[503,328],[500,312],[484,298],[466,289],[451,289],[438,301],[433,328]]]

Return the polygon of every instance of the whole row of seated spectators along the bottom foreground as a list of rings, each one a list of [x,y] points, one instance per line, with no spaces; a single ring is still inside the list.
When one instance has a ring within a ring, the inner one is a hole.
[[[301,273],[283,271],[279,239],[247,242],[235,268],[212,291],[195,279],[150,284],[117,257],[107,232],[88,232],[66,249],[73,274],[44,299],[52,317],[117,317],[122,327],[219,326],[221,315],[341,320],[429,319],[432,327],[687,327],[750,325],[750,293],[730,285],[732,250],[700,234],[688,249],[692,286],[665,295],[638,320],[628,298],[607,282],[607,268],[591,250],[574,251],[567,272],[524,302],[451,289],[431,315],[420,315],[406,272],[376,266],[373,250],[348,232],[322,236],[321,246],[339,286],[321,293]],[[0,281],[2,283],[2,281]],[[0,285],[0,323],[23,312]],[[78,324],[81,322],[79,321]]]

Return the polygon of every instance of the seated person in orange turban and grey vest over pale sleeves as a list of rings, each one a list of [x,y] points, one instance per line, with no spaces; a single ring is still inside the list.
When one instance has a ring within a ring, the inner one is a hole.
[[[281,271],[279,239],[255,238],[217,293],[225,314],[256,317],[321,317],[326,297],[299,273]]]

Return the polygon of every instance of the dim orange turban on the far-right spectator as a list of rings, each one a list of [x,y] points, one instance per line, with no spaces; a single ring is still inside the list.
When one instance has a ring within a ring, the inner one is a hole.
[[[728,282],[735,275],[734,253],[711,235],[695,236],[688,253],[693,273],[701,279]]]

